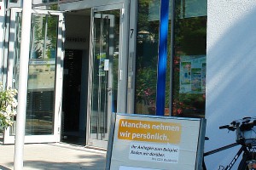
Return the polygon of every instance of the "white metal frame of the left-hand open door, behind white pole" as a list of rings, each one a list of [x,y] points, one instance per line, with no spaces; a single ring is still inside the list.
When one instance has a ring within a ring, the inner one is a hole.
[[[5,60],[8,63],[7,71],[7,85],[12,87],[13,82],[13,66],[15,53],[9,53],[13,50],[15,52],[15,16],[16,13],[21,13],[22,8],[10,8],[10,18],[9,18],[9,44],[8,48],[5,47]],[[26,135],[25,143],[46,143],[46,142],[60,142],[61,141],[61,102],[62,102],[62,79],[63,79],[63,60],[64,60],[64,16],[60,11],[53,10],[42,10],[42,9],[32,9],[32,14],[50,14],[59,16],[58,24],[58,35],[57,35],[57,47],[56,47],[56,60],[55,60],[55,113],[54,113],[54,133],[49,135]],[[8,53],[7,51],[8,50]],[[9,134],[10,127],[5,130],[3,137],[3,144],[14,144],[15,136]]]

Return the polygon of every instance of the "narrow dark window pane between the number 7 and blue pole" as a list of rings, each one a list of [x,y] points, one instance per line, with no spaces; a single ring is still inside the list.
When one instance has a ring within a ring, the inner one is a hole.
[[[135,112],[155,114],[160,0],[138,1]]]

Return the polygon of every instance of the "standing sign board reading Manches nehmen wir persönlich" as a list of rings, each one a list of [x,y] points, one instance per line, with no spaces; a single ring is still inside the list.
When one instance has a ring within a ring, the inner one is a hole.
[[[205,124],[205,119],[116,114],[106,169],[198,169]]]

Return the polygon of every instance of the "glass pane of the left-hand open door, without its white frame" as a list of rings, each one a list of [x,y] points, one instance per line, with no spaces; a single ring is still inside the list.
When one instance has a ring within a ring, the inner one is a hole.
[[[54,133],[57,27],[58,16],[32,14],[26,135]]]

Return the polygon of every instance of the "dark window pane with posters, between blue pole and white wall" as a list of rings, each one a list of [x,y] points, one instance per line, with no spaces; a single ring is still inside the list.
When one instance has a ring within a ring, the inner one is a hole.
[[[205,115],[207,0],[176,0],[172,116]]]

